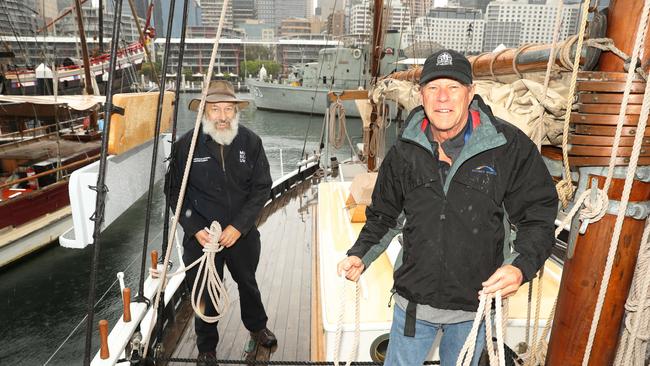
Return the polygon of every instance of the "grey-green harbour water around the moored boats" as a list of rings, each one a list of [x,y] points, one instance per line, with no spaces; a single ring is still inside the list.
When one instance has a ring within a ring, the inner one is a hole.
[[[194,124],[195,114],[187,111],[186,106],[196,96],[181,95],[181,132]],[[301,160],[305,136],[306,151],[317,149],[322,121],[322,116],[266,112],[254,107],[244,110],[241,116],[241,123],[262,137],[274,179],[282,171],[295,169]],[[353,142],[360,141],[361,121],[348,119],[347,125]],[[349,158],[349,148],[344,147],[335,155],[339,160]],[[161,246],[164,197],[160,184],[155,189],[149,250]],[[109,319],[110,323],[119,316],[118,271],[124,271],[127,286],[138,287],[145,209],[146,195],[102,234],[96,321]],[[0,365],[82,364],[92,254],[92,246],[65,249],[56,243],[0,272]],[[93,354],[97,347],[95,336]]]

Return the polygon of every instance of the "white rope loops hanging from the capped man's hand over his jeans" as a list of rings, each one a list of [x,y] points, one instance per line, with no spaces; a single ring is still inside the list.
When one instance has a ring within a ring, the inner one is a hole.
[[[494,345],[492,344],[492,299],[495,299],[495,313],[496,313],[496,324],[497,324],[497,351],[494,351]],[[474,317],[474,322],[472,323],[472,329],[463,344],[463,348],[460,350],[458,359],[456,360],[456,366],[470,366],[472,363],[472,358],[474,356],[474,351],[476,349],[476,339],[478,336],[478,329],[481,326],[481,322],[485,318],[485,340],[488,347],[488,356],[490,359],[490,366],[505,366],[505,346],[503,343],[503,319],[502,319],[502,302],[501,302],[501,290],[498,290],[494,295],[482,294],[481,300],[478,304],[478,309],[476,310],[476,316]]]

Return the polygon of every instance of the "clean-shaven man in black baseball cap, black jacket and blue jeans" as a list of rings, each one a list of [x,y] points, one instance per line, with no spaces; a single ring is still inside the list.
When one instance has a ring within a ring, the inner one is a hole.
[[[421,365],[440,330],[441,365],[455,365],[479,296],[514,294],[554,243],[557,194],[546,166],[535,144],[474,94],[469,61],[453,50],[432,54],[420,93],[422,106],[379,169],[367,222],[338,264],[357,281],[404,212],[384,365]],[[472,365],[485,345],[484,323],[476,345]]]

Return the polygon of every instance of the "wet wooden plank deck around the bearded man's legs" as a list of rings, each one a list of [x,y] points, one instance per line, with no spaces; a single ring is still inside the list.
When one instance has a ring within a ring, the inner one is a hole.
[[[312,212],[315,203],[315,190],[310,182],[304,182],[270,203],[260,218],[262,254],[257,281],[269,317],[267,326],[278,338],[278,347],[273,350],[271,360],[310,359]],[[250,337],[241,322],[237,285],[227,269],[225,280],[231,307],[218,325],[217,358],[241,360]],[[197,355],[194,320],[190,317],[172,357],[196,358]]]

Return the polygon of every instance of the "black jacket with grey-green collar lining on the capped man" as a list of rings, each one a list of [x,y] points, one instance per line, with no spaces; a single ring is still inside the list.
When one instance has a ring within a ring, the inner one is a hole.
[[[513,265],[534,277],[554,243],[557,194],[535,145],[496,118],[476,96],[480,125],[441,181],[418,107],[382,163],[367,222],[348,255],[372,256],[373,246],[404,210],[402,265],[395,290],[440,309],[476,311],[477,292],[503,264],[504,210],[516,226]],[[364,260],[364,263],[368,259]]]

